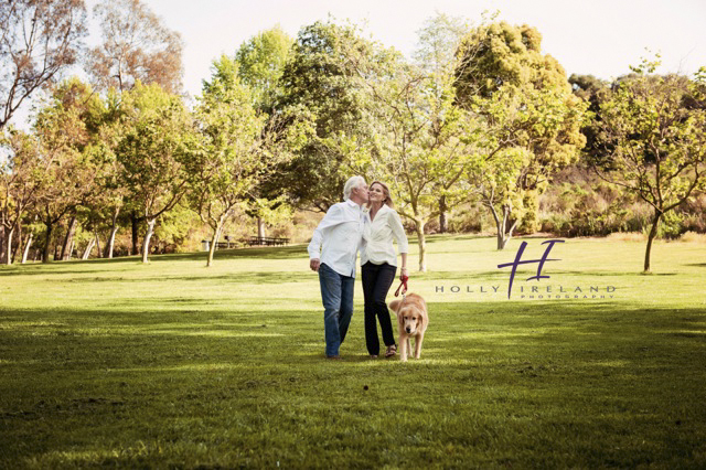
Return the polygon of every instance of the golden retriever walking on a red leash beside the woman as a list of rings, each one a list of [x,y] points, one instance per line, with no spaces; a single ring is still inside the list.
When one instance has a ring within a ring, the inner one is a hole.
[[[407,361],[411,354],[411,341],[415,338],[415,359],[421,354],[424,333],[429,325],[427,302],[421,296],[408,293],[403,300],[389,302],[389,309],[397,314],[397,331],[399,332],[399,359]]]

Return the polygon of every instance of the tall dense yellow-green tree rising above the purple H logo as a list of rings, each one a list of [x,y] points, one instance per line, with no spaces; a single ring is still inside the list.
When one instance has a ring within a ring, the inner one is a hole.
[[[474,164],[480,173],[471,179],[485,179],[480,194],[496,222],[499,249],[520,223],[527,232],[536,229],[539,194],[558,170],[578,159],[585,145],[580,126],[587,105],[571,94],[564,68],[542,54],[541,44],[534,28],[501,22],[471,30],[458,52],[458,104],[485,126],[479,153],[483,162]],[[500,161],[507,156],[522,164]],[[511,169],[513,184],[510,175],[498,174]],[[495,184],[495,177],[503,184]]]

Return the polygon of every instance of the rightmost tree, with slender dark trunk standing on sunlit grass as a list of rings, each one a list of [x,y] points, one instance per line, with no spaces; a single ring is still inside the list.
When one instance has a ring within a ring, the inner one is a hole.
[[[600,139],[612,149],[613,171],[593,167],[652,207],[644,273],[660,221],[706,186],[706,67],[691,81],[654,75],[659,65],[633,67],[637,75],[601,106]]]

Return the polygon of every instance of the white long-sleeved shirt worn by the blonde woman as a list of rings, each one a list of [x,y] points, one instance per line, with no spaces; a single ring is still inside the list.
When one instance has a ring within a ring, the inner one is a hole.
[[[397,266],[397,255],[393,246],[393,239],[397,242],[399,253],[407,253],[407,235],[402,225],[402,220],[394,209],[383,204],[371,221],[370,212],[365,214],[368,223],[365,224],[365,248],[361,253],[361,265],[371,261],[374,265],[387,263]]]

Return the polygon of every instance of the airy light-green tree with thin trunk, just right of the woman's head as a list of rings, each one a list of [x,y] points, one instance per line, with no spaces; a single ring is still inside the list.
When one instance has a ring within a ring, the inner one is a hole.
[[[359,172],[389,181],[397,211],[415,224],[419,270],[427,269],[425,225],[468,200],[463,175],[474,146],[475,119],[456,106],[453,64],[428,72],[394,50],[366,51],[340,41],[366,115],[368,141]],[[365,169],[367,168],[367,171]],[[439,204],[439,200],[445,205]]]

